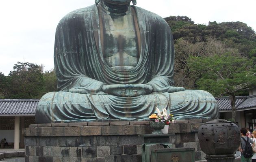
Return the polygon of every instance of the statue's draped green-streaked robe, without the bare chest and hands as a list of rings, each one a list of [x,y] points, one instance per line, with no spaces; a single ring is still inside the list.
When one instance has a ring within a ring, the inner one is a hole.
[[[131,6],[137,13],[141,55],[135,68],[114,70],[104,61],[96,5],[67,14],[56,29],[54,64],[60,92],[45,94],[36,110],[37,123],[94,120],[143,120],[156,107],[167,108],[176,119],[217,119],[216,100],[205,91],[171,92],[174,44],[168,24],[160,16]],[[148,84],[153,93],[118,97],[101,91],[103,85]],[[83,89],[85,94],[69,89]]]

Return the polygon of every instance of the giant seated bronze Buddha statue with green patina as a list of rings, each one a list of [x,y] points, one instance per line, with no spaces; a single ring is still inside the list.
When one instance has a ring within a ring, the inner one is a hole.
[[[148,120],[156,107],[175,119],[219,117],[211,94],[174,87],[168,24],[130,2],[101,0],[61,19],[54,47],[59,92],[41,98],[37,123]]]

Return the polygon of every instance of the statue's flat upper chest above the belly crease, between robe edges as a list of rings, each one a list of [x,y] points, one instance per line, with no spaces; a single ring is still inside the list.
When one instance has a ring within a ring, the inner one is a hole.
[[[136,35],[132,15],[115,19],[106,19],[104,15],[102,26],[102,52],[104,57],[111,57],[117,53],[125,53],[132,57],[139,57],[138,38]]]

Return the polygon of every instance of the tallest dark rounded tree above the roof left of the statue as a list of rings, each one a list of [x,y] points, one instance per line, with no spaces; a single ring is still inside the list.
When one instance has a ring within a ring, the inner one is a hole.
[[[9,73],[8,98],[38,98],[43,90],[42,67],[32,63],[17,62]]]

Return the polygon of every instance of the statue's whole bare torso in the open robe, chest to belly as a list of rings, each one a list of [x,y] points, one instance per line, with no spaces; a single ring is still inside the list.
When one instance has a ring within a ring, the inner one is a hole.
[[[112,19],[102,15],[101,45],[104,60],[111,68],[127,70],[134,68],[139,61],[138,31],[134,17],[126,15]]]

